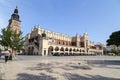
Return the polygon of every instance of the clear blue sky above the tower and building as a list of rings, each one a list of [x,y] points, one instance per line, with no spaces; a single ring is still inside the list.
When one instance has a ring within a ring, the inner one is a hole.
[[[0,0],[0,29],[16,5],[24,36],[40,25],[70,36],[88,32],[90,41],[106,44],[120,30],[120,0]]]

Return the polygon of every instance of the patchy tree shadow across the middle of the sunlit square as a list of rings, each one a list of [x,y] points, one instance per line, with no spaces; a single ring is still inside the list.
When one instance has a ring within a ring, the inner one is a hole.
[[[92,68],[86,65],[78,65],[74,63],[66,63],[61,66],[57,66],[61,63],[39,63],[34,67],[28,67],[28,70],[44,70],[49,73],[56,73],[54,72],[54,68],[63,69],[63,70],[76,70],[76,69],[82,69],[82,70],[91,70]]]

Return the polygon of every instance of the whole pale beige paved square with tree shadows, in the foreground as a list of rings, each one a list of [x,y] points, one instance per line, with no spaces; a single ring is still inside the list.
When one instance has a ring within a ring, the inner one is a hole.
[[[120,56],[17,56],[0,60],[5,80],[120,80]],[[1,73],[0,73],[1,74]],[[1,80],[0,79],[0,80]]]

